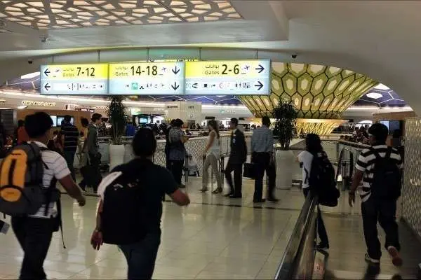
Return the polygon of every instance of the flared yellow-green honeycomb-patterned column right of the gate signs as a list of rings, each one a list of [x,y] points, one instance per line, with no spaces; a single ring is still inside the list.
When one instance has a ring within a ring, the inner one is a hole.
[[[340,119],[377,81],[333,66],[272,62],[271,94],[240,97],[256,118],[272,116],[279,100],[293,102],[298,118]]]

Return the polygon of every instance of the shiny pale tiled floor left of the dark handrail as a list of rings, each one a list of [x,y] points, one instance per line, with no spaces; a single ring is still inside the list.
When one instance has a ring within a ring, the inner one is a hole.
[[[302,204],[300,191],[283,191],[281,202],[259,209],[253,208],[253,181],[244,181],[242,200],[202,194],[200,186],[201,179],[190,180],[188,207],[164,203],[154,279],[272,279],[299,214],[300,205],[290,209],[290,198]],[[116,246],[95,252],[89,244],[97,202],[88,196],[80,208],[63,195],[67,248],[56,233],[44,263],[49,279],[126,277],[126,262]],[[13,232],[0,239],[0,279],[16,279],[22,251]]]

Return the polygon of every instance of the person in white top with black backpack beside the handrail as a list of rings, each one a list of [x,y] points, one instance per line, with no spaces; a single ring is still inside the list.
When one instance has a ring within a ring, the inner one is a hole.
[[[305,151],[298,155],[298,162],[302,165],[302,191],[305,197],[311,192],[312,195],[319,196],[319,204],[330,206],[329,202],[333,199],[330,198],[331,195],[329,195],[328,190],[335,187],[335,171],[323,151],[319,135],[307,134]],[[326,176],[321,174],[326,174]],[[335,190],[337,189],[335,188]],[[335,190],[332,192],[335,192]],[[338,195],[333,197],[336,197],[336,203],[338,203]],[[316,249],[326,251],[329,248],[329,239],[321,217],[319,204],[317,205],[317,233],[320,242],[316,245]]]

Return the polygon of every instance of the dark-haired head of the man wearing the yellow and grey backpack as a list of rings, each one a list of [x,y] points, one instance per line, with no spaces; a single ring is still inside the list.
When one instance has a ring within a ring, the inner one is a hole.
[[[25,130],[29,139],[47,144],[51,139],[51,128],[53,120],[48,113],[37,112],[25,118]]]

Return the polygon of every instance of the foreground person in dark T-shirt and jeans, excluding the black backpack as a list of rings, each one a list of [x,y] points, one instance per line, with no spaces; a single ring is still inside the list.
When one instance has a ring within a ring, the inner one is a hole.
[[[156,139],[152,130],[147,128],[140,129],[133,139],[135,159],[125,165],[116,167],[111,174],[102,180],[98,188],[98,195],[100,195],[101,201],[100,207],[98,207],[97,225],[91,238],[91,244],[97,250],[102,244],[101,217],[103,214],[102,201],[104,200],[105,189],[118,176],[129,176],[129,179],[142,180],[141,186],[133,188],[142,188],[142,196],[138,205],[139,211],[142,211],[142,216],[145,217],[145,220],[140,222],[143,223],[142,228],[145,229],[145,236],[139,237],[138,242],[133,244],[119,245],[127,259],[128,279],[152,278],[156,254],[161,241],[161,197],[167,194],[180,206],[190,203],[189,197],[178,188],[178,183],[174,181],[171,173],[164,167],[154,165],[152,158],[155,151]],[[159,180],[156,180],[157,178]],[[131,213],[128,213],[128,215],[131,215]],[[126,233],[123,232],[122,234]]]

